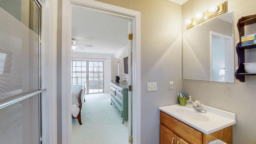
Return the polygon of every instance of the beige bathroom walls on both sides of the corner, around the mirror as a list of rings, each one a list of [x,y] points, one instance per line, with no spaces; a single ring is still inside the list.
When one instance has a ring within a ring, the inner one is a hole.
[[[184,20],[225,0],[189,0],[182,6],[168,0],[98,1],[141,12],[141,144],[159,143],[158,107],[177,104],[176,92],[181,92],[181,86],[193,100],[236,113],[233,144],[256,143],[256,76],[246,76],[246,82],[235,80],[228,84],[182,80]],[[255,0],[229,0],[228,11],[234,11],[236,22],[241,16],[255,14],[255,4]],[[234,41],[237,42],[238,31],[234,25]],[[236,67],[236,53],[234,63]],[[174,90],[169,90],[169,81],[174,81]],[[157,82],[158,90],[147,92],[147,82]]]

